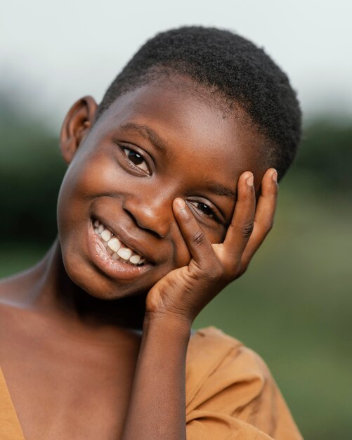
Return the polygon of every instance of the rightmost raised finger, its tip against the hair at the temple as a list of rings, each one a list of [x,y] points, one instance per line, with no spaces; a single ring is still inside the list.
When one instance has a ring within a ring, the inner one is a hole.
[[[278,173],[270,168],[263,176],[261,195],[256,207],[254,228],[242,255],[241,267],[247,268],[256,250],[260,247],[266,235],[273,228],[276,203],[278,200]]]

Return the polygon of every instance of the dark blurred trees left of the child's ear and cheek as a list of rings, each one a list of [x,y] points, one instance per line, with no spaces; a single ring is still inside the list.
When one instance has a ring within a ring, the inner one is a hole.
[[[56,235],[56,200],[66,165],[58,136],[30,112],[0,101],[0,242],[49,242]]]

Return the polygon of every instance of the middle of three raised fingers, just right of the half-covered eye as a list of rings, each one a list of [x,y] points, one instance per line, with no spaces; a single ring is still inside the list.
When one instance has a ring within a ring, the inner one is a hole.
[[[253,231],[256,195],[251,172],[241,174],[237,183],[237,202],[233,218],[223,241],[223,248],[230,261],[240,261],[242,252]]]

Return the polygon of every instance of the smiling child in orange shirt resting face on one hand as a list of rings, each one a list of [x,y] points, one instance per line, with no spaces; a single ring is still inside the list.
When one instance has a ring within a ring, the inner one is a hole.
[[[211,28],[158,34],[73,105],[58,238],[0,285],[1,440],[301,439],[259,356],[191,334],[270,230],[300,133],[286,75]]]

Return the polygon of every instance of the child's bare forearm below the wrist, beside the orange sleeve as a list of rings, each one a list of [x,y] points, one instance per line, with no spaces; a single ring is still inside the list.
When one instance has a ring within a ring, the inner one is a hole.
[[[146,316],[122,440],[185,439],[190,323]]]

